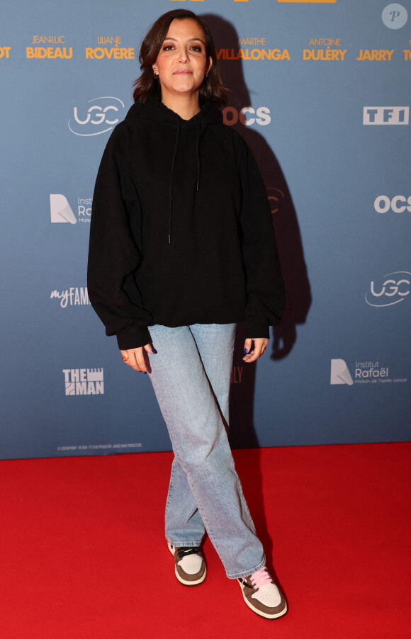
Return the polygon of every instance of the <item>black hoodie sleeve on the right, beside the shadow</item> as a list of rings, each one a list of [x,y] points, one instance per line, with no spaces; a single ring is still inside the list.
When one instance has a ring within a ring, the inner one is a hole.
[[[266,189],[249,147],[240,158],[242,251],[246,273],[246,337],[269,337],[280,322],[285,290]]]

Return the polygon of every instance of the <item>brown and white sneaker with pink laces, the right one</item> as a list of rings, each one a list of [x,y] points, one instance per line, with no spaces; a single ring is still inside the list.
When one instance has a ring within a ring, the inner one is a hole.
[[[237,579],[237,581],[242,589],[245,603],[257,615],[266,619],[275,619],[286,614],[287,602],[265,566],[249,577]]]

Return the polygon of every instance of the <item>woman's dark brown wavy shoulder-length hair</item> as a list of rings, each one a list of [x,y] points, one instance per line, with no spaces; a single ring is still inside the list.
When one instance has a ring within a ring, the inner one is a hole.
[[[154,78],[152,65],[157,60],[159,50],[162,43],[167,37],[169,26],[173,20],[195,20],[203,29],[205,35],[205,55],[211,57],[213,64],[208,72],[208,78],[204,78],[200,86],[199,101],[203,104],[205,101],[211,102],[215,106],[222,106],[227,103],[227,95],[218,71],[217,54],[215,53],[215,45],[210,29],[205,22],[196,16],[193,11],[186,9],[174,9],[167,11],[156,20],[142,41],[140,48],[140,69],[142,74],[134,82],[135,86],[133,98],[135,102],[145,102],[150,96],[161,99],[162,89],[159,79]]]

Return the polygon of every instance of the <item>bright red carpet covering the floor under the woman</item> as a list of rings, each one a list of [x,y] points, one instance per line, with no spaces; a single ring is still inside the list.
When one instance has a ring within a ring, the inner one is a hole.
[[[286,616],[249,611],[208,540],[205,582],[176,581],[163,533],[171,453],[16,460],[0,463],[1,636],[410,638],[411,443],[235,460]]]

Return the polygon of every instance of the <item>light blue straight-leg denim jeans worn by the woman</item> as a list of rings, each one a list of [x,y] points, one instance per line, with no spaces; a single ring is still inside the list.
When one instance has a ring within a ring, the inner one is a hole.
[[[227,577],[265,564],[227,439],[235,324],[150,327],[150,379],[174,451],[166,538],[200,545],[207,530]]]

